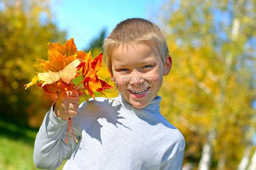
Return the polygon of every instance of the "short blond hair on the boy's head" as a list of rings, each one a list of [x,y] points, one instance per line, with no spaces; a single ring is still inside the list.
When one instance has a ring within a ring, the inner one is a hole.
[[[111,56],[121,45],[152,44],[158,49],[163,63],[169,53],[163,32],[154,23],[141,18],[120,22],[104,40],[104,62],[112,74]]]

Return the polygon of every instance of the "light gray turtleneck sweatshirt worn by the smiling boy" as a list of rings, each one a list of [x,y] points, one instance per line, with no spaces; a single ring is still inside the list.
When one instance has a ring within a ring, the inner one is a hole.
[[[122,95],[113,101],[96,98],[80,105],[73,117],[78,140],[66,144],[67,120],[53,108],[36,136],[34,162],[40,169],[64,170],[181,170],[184,138],[160,114],[157,96],[143,109],[130,105]]]

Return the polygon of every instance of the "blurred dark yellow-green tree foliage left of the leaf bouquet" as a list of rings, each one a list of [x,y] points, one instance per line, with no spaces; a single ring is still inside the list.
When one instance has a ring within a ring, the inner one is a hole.
[[[24,88],[36,74],[35,58],[47,60],[47,43],[65,43],[66,33],[53,24],[49,9],[44,0],[0,0],[0,118],[5,121],[41,124],[54,100],[36,86]]]

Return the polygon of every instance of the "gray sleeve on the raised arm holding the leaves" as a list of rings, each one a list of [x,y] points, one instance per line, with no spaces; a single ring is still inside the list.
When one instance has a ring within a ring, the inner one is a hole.
[[[53,107],[46,114],[36,135],[33,157],[37,168],[56,169],[71,157],[76,141],[68,136],[66,144],[67,122],[54,114]]]

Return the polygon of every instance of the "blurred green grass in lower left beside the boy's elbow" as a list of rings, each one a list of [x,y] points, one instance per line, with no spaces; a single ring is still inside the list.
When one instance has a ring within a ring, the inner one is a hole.
[[[37,131],[0,120],[0,170],[38,170],[33,162]]]

